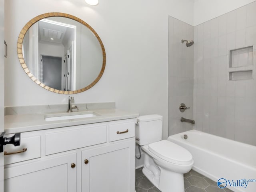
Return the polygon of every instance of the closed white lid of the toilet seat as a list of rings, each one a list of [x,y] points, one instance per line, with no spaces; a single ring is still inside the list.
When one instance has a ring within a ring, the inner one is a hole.
[[[161,140],[148,145],[148,150],[168,162],[188,165],[193,162],[193,157],[185,148],[168,140]]]

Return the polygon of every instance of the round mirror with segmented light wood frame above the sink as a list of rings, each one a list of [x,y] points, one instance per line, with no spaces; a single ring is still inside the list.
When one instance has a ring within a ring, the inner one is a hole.
[[[106,53],[98,34],[83,20],[64,13],[46,13],[21,30],[18,58],[36,84],[60,94],[88,90],[100,80]]]

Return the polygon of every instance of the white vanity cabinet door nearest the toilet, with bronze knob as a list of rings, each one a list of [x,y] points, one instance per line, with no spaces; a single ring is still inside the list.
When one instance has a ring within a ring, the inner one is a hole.
[[[134,154],[134,138],[82,151],[82,192],[134,192]]]

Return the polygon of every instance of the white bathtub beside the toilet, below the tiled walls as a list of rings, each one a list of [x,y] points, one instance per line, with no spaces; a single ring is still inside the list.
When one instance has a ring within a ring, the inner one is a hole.
[[[184,139],[184,134],[188,136],[187,139]],[[230,182],[241,179],[256,180],[256,146],[197,130],[169,136],[168,140],[186,148],[192,154],[193,170],[216,182],[220,178]],[[226,187],[234,192],[256,192],[256,182],[249,182],[246,188],[230,187],[229,183]]]

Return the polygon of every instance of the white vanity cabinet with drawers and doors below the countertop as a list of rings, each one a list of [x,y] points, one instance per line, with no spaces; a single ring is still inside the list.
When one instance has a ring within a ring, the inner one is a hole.
[[[4,192],[134,192],[135,122],[22,133],[27,151],[5,156]]]

